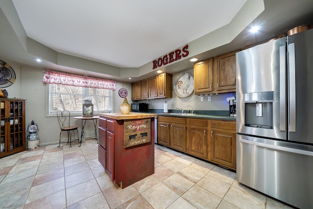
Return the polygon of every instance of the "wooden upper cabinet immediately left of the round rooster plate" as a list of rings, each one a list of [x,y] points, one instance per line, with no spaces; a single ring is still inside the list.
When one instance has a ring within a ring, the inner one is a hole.
[[[157,97],[172,98],[172,74],[162,73],[157,76]]]

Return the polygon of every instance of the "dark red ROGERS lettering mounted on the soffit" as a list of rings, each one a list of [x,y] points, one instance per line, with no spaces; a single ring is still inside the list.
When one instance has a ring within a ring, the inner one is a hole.
[[[152,61],[153,68],[156,69],[161,67],[162,65],[167,65],[169,63],[172,63],[174,61],[180,60],[181,57],[186,57],[189,54],[188,45],[182,47],[182,49],[176,49],[175,51],[172,51],[163,57],[159,57],[157,60]]]

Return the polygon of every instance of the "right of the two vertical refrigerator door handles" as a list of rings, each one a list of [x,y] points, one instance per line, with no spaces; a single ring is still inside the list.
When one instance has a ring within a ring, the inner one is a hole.
[[[289,128],[290,132],[295,132],[295,52],[294,52],[294,43],[288,45],[288,60],[289,60]]]

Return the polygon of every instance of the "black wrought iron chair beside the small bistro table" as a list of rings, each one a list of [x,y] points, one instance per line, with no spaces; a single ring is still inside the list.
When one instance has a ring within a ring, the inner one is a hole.
[[[70,126],[70,113],[69,113],[69,111],[68,110],[64,110],[64,111],[58,110],[57,111],[57,117],[58,117],[60,129],[61,129],[59,146],[61,145],[61,135],[62,135],[62,132],[64,132],[64,131],[67,132],[67,142],[69,140],[69,147],[72,147],[72,134],[75,132],[75,130],[77,131],[77,140],[79,143],[78,127],[77,126]],[[80,141],[80,145],[81,144],[82,144],[82,140]]]

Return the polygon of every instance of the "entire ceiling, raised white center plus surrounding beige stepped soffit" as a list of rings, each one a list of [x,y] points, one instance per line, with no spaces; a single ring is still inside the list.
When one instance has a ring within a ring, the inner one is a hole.
[[[248,30],[261,24],[261,31]],[[312,0],[0,0],[0,60],[130,82],[313,24]],[[41,63],[34,60],[44,58]]]

